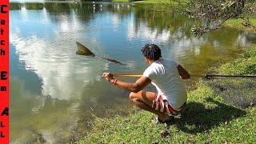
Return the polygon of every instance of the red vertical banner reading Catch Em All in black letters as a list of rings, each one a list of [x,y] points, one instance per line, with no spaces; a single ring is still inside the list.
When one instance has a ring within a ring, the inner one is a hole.
[[[0,0],[0,143],[9,143],[9,0]]]

